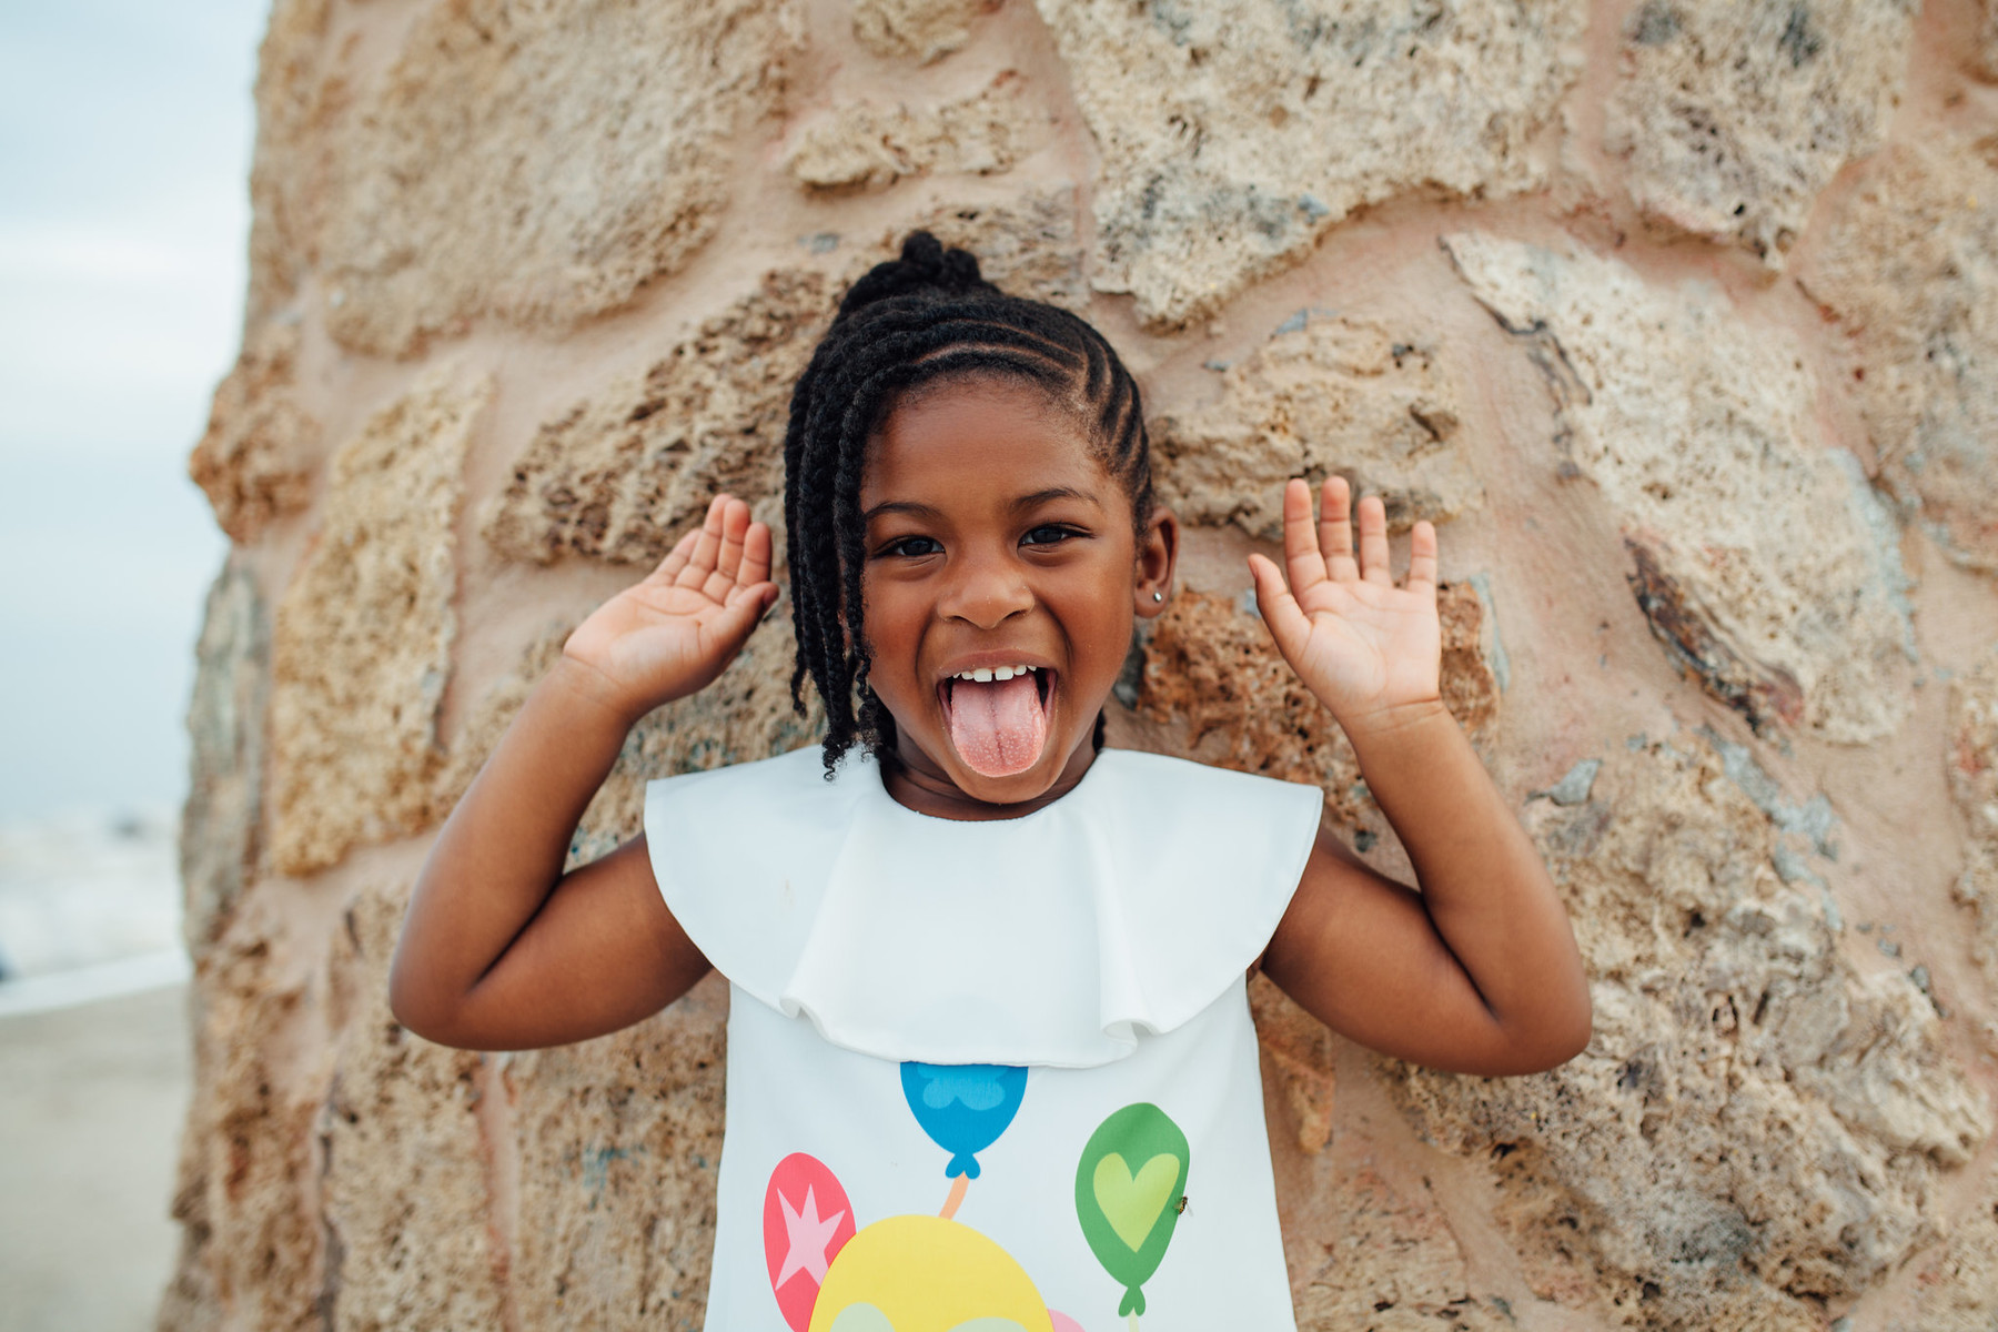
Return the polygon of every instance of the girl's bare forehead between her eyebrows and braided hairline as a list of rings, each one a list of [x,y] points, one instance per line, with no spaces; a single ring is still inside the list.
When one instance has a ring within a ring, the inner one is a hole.
[[[1029,383],[951,381],[897,403],[867,445],[861,509],[1071,487],[1109,503],[1113,481],[1075,415]]]

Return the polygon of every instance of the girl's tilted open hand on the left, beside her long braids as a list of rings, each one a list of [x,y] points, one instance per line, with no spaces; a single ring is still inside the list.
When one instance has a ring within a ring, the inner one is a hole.
[[[721,675],[775,601],[769,527],[751,523],[741,499],[715,495],[707,521],[599,605],[561,651],[589,667],[605,703],[637,719]]]

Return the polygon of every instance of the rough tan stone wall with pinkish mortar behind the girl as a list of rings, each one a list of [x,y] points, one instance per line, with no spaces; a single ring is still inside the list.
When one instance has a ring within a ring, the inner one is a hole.
[[[278,0],[190,713],[162,1326],[695,1328],[725,991],[478,1056],[384,977],[561,633],[927,226],[1143,381],[1181,593],[1113,741],[1317,781],[1283,477],[1441,525],[1445,679],[1596,1036],[1489,1082],[1255,995],[1305,1328],[1998,1318],[1998,4]],[[781,533],[779,533],[781,541]],[[783,615],[647,777],[809,743]]]

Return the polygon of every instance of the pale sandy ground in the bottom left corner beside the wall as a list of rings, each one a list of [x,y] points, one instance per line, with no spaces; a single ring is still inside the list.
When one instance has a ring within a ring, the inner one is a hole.
[[[152,1328],[188,1110],[188,991],[0,1016],[0,1332]]]

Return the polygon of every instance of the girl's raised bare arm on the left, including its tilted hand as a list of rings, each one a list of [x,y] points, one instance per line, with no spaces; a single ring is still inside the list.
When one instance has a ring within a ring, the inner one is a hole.
[[[561,863],[631,725],[715,679],[775,599],[769,527],[717,495],[701,529],[569,635],[424,863],[390,971],[396,1020],[464,1048],[563,1044],[707,973],[643,837],[569,875]]]

